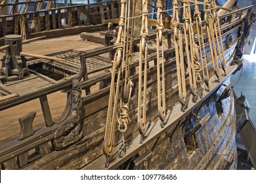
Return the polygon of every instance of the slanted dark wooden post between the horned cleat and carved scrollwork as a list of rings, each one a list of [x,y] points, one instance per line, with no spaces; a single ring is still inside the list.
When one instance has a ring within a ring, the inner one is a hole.
[[[53,125],[52,114],[50,114],[50,107],[48,104],[47,96],[43,95],[42,97],[39,97],[39,99],[41,103],[41,108],[43,110],[46,127],[51,127]]]

